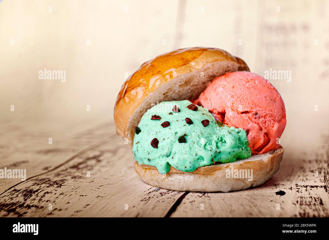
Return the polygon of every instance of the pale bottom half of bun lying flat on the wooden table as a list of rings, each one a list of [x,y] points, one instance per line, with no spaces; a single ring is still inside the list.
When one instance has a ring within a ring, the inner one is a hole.
[[[229,192],[263,184],[279,170],[284,149],[281,147],[260,155],[232,163],[198,167],[183,172],[170,166],[160,174],[155,166],[138,164],[135,171],[146,183],[181,192]]]

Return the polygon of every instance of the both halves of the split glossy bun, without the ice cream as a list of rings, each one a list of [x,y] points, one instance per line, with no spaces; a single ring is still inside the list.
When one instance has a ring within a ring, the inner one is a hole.
[[[132,148],[134,127],[152,104],[196,99],[215,77],[235,71],[249,68],[242,59],[218,48],[178,49],[145,62],[129,76],[117,96],[114,106],[117,135]],[[135,171],[144,182],[159,188],[229,192],[258,186],[271,178],[279,169],[283,151],[279,148],[232,163],[202,166],[193,172],[170,166],[169,172],[160,174],[155,166],[135,162]],[[227,178],[228,169],[252,169],[252,180]]]

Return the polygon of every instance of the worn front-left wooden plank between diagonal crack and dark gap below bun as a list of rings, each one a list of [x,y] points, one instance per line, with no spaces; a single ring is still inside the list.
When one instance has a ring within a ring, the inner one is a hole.
[[[0,216],[165,216],[183,193],[142,182],[133,164],[122,140],[118,136],[107,138],[99,147],[1,195]]]

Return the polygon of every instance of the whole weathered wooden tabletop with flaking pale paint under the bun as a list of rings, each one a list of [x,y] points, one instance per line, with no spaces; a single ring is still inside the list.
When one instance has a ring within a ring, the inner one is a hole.
[[[0,136],[0,169],[27,171],[26,181],[0,179],[0,217],[329,216],[328,147],[305,158],[286,149],[259,187],[184,193],[140,180],[113,123],[2,123]]]

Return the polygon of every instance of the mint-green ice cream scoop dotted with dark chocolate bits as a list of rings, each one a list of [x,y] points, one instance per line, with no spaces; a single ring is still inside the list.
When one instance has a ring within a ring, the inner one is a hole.
[[[161,102],[148,109],[135,133],[135,160],[156,166],[163,174],[170,166],[192,172],[251,156],[243,129],[218,126],[208,109],[188,100]]]

